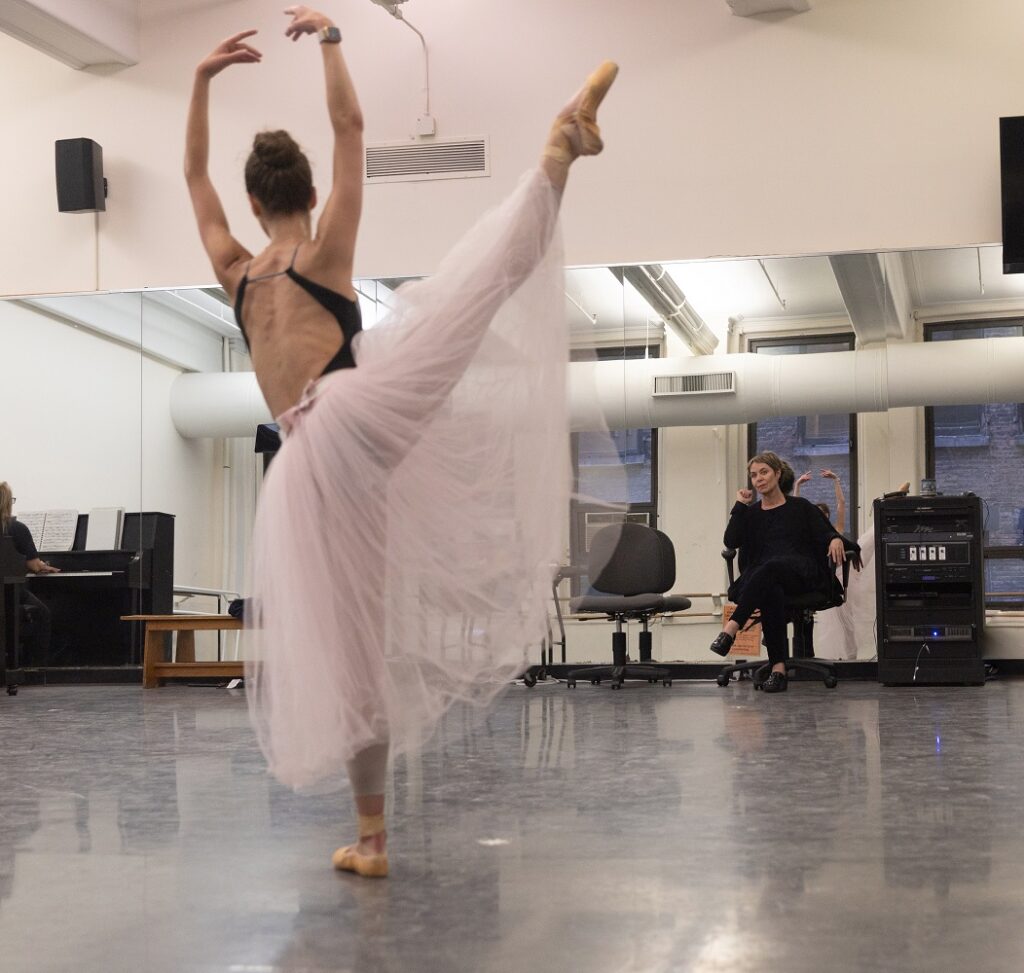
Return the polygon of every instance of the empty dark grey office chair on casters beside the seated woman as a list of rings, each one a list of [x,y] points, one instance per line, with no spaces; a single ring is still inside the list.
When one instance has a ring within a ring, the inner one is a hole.
[[[690,599],[666,595],[676,583],[676,552],[672,541],[660,531],[641,523],[615,523],[594,535],[587,565],[593,593],[573,598],[569,609],[578,615],[603,615],[615,623],[611,634],[611,665],[573,669],[566,684],[575,687],[577,679],[589,679],[597,685],[611,680],[611,688],[622,688],[626,679],[662,681],[671,686],[669,670],[645,665],[651,662],[650,619],[665,611],[684,611]],[[640,633],[640,665],[629,665],[626,632],[623,623],[637,619]]]

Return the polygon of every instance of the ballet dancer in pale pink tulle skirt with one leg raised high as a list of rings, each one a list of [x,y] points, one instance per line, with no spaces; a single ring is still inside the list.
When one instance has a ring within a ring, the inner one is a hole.
[[[306,6],[285,12],[287,37],[319,39],[334,133],[315,230],[309,163],[285,132],[257,134],[246,164],[269,238],[255,256],[210,180],[210,83],[261,60],[255,31],[196,69],[185,178],[285,436],[252,542],[254,727],[286,785],[347,772],[358,836],[333,863],[380,877],[389,754],[420,746],[454,703],[493,700],[544,637],[569,485],[557,213],[573,161],[602,149],[596,110],[617,69],[587,79],[539,167],[362,331],[352,286],[362,116],[336,25]]]

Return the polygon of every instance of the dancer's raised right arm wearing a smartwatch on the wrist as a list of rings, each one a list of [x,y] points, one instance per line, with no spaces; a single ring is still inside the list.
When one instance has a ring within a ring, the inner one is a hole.
[[[288,7],[292,17],[285,34],[293,41],[303,34],[333,28],[334,22],[310,7]],[[341,53],[341,43],[322,41],[327,109],[334,131],[334,173],[331,195],[316,225],[316,249],[322,259],[349,280],[355,237],[362,211],[362,112]]]

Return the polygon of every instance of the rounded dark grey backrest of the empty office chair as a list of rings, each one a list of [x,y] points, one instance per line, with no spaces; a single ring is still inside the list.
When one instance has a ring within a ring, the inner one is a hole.
[[[614,523],[594,535],[588,573],[591,585],[609,595],[663,594],[676,583],[676,551],[660,531]]]

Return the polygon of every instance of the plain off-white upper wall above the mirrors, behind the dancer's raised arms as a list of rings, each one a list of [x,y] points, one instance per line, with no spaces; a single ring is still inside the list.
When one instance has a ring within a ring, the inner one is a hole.
[[[999,115],[1024,107],[1018,0],[816,0],[744,18],[724,0],[410,3],[431,48],[441,135],[487,134],[489,179],[367,194],[357,272],[432,269],[460,229],[532,163],[552,112],[590,67],[623,73],[565,206],[570,263],[966,245],[999,237]],[[315,44],[291,44],[273,4],[141,2],[141,60],[101,75],[0,37],[0,125],[16,186],[0,293],[210,280],[180,177],[191,70],[226,34],[260,29],[264,62],[214,85],[213,172],[253,246],[240,173],[252,132],[294,129],[326,181]],[[369,0],[338,5],[371,140],[421,108],[415,35]],[[307,39],[308,41],[308,39]],[[55,212],[52,142],[103,145],[109,211]],[[98,282],[96,263],[98,256]]]

